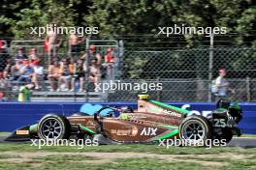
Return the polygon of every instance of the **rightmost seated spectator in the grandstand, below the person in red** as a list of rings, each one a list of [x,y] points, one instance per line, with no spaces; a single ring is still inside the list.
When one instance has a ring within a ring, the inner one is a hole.
[[[101,66],[98,65],[96,59],[91,60],[91,66],[89,71],[89,80],[92,81],[94,83],[94,86],[96,87],[101,77]]]

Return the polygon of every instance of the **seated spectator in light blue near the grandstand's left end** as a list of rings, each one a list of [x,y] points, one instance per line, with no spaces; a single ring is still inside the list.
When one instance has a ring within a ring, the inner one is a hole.
[[[34,69],[29,65],[28,61],[23,61],[23,66],[19,70],[19,77],[17,78],[18,84],[21,82],[31,83],[32,76],[34,74]]]

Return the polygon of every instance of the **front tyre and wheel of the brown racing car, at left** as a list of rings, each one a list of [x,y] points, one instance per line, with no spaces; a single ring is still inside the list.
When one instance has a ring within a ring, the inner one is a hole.
[[[48,114],[40,120],[37,131],[40,139],[68,139],[71,133],[71,126],[64,116]]]

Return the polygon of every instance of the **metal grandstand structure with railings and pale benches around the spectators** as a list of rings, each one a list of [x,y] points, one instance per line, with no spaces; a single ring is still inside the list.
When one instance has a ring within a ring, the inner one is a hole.
[[[7,42],[4,42],[7,44]],[[114,67],[112,71],[112,76],[107,77],[106,75],[101,78],[101,82],[108,81],[110,78],[114,80],[119,77],[121,58],[122,58],[122,42],[115,40],[89,40],[82,42],[81,50],[83,53],[87,53],[87,49],[89,46],[95,46],[97,52],[99,52],[102,56],[106,53],[108,47],[112,47],[114,49]],[[42,61],[42,65],[44,66],[45,74],[48,74],[48,53],[44,50],[44,41],[43,40],[22,40],[22,41],[12,41],[10,43],[10,47],[7,48],[7,53],[10,54],[9,57],[12,57],[15,60],[14,56],[16,55],[17,48],[22,47],[25,50],[25,54],[29,55],[29,50],[31,48],[36,49],[37,56],[39,56],[40,61]],[[80,57],[81,54],[78,54],[76,57]],[[58,52],[57,57],[59,60],[61,58],[65,58],[67,56],[67,46],[64,46]],[[105,73],[105,72],[103,72]],[[86,75],[85,75],[86,76]],[[86,79],[86,78],[85,78]],[[87,78],[88,79],[88,78]],[[3,100],[16,100],[17,95],[19,93],[18,89],[20,85],[17,81],[9,81],[7,80],[7,86],[5,89],[0,89],[2,92],[5,92],[5,98]],[[94,91],[94,85],[92,82],[85,82],[85,91],[79,92],[78,90],[74,90],[73,92],[50,92],[49,81],[47,78],[41,81],[42,85],[39,90],[34,90],[31,96],[32,101],[104,101],[108,99],[108,93],[101,93]]]

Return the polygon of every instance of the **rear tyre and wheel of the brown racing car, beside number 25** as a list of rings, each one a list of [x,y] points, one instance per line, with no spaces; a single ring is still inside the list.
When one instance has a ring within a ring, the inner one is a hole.
[[[206,142],[212,137],[212,129],[208,119],[203,116],[190,116],[179,126],[179,137],[186,141]]]

